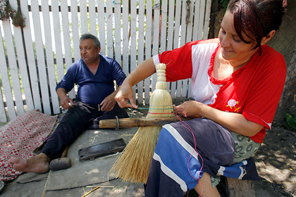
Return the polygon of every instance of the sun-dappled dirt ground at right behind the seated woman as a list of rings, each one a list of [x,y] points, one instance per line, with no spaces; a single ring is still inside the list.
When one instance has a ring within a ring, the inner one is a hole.
[[[257,188],[278,196],[296,196],[296,133],[280,127],[266,132],[264,142],[254,155],[261,182]]]

